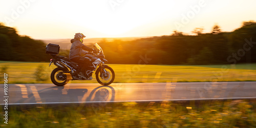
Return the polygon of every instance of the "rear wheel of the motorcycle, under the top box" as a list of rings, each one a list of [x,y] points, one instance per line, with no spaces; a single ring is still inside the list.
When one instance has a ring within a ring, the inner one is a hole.
[[[68,71],[65,68],[57,67],[53,69],[51,73],[51,81],[56,86],[64,86],[69,80],[67,80],[67,75],[63,73],[63,71]]]

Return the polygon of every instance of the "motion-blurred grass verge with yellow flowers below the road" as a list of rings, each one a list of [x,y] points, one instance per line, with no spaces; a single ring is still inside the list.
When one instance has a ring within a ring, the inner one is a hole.
[[[9,106],[4,127],[256,127],[255,99]],[[2,109],[3,110],[3,109]],[[1,113],[3,115],[3,112]]]

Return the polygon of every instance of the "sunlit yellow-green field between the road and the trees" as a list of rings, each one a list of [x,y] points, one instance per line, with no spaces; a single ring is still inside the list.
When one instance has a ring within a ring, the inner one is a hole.
[[[120,65],[108,64],[115,71],[114,83],[141,82],[211,82],[211,81],[256,81],[256,64],[237,65]],[[49,63],[0,61],[1,78],[8,74],[8,83],[51,83]],[[36,80],[35,72],[41,80]],[[70,83],[97,83],[70,81]]]

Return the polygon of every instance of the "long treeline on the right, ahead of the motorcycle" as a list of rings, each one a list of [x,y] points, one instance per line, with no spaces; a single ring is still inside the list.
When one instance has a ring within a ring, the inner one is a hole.
[[[170,36],[134,41],[102,40],[109,63],[115,64],[237,64],[256,62],[256,22],[244,22],[233,32],[221,32],[214,25],[211,33],[196,28],[194,36],[174,31]],[[147,59],[147,60],[145,60]]]

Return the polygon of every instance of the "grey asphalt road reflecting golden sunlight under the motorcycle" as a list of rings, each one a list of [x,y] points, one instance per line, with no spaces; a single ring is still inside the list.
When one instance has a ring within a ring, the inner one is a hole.
[[[4,87],[0,105],[256,98],[256,82],[8,84],[6,95]]]

